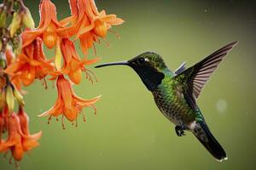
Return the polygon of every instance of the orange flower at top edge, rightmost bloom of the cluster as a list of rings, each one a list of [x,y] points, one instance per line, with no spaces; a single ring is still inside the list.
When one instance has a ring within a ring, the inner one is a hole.
[[[77,3],[77,7],[75,3]],[[87,49],[91,48],[94,42],[99,42],[98,37],[105,39],[111,26],[120,25],[124,22],[115,14],[106,14],[105,10],[98,12],[94,0],[70,0],[70,5],[73,17],[65,20],[65,22],[76,22],[76,24],[68,28],[58,29],[58,31],[67,31],[69,36],[76,35],[76,39],[80,39],[80,46],[84,54],[87,54]]]

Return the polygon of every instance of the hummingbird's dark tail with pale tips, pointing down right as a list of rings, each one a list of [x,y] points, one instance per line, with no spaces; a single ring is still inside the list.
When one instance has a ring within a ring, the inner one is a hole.
[[[206,122],[196,122],[195,128],[192,132],[195,134],[195,137],[199,139],[201,144],[203,144],[212,154],[212,156],[217,159],[217,161],[228,159],[223,147],[218,143],[217,139],[213,137]]]

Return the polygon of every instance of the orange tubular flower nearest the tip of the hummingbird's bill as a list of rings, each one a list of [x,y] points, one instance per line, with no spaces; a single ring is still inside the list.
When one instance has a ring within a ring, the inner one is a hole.
[[[66,74],[70,80],[76,84],[81,82],[82,71],[85,71],[86,75],[89,75],[89,73],[86,72],[84,65],[91,65],[99,60],[99,58],[80,59],[73,42],[67,38],[62,39],[61,54],[63,54],[63,66],[61,67],[61,71],[55,71],[52,74],[53,77],[51,79],[55,79],[61,74]]]

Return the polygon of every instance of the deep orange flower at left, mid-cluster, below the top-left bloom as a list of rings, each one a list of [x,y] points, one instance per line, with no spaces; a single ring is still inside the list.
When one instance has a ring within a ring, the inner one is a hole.
[[[54,67],[50,64],[50,60],[46,60],[44,56],[42,40],[38,37],[22,49],[18,59],[11,63],[5,72],[9,74],[15,85],[20,86],[21,81],[24,86],[28,86],[34,79],[42,79],[53,70]]]

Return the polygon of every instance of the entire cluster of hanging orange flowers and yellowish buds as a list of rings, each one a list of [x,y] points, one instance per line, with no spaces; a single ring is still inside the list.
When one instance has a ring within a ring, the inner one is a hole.
[[[112,26],[120,25],[124,20],[115,14],[98,11],[94,0],[69,0],[71,15],[63,20],[56,16],[55,4],[50,0],[41,0],[39,4],[40,21],[34,28],[32,15],[22,0],[3,1],[0,5],[0,152],[11,150],[16,161],[22,159],[23,153],[38,146],[41,132],[30,134],[28,116],[24,111],[23,86],[31,85],[35,80],[55,82],[57,99],[49,111],[39,116],[61,116],[62,127],[65,128],[65,118],[76,122],[83,109],[90,107],[96,113],[94,99],[82,99],[73,90],[74,84],[79,84],[83,72],[91,82],[93,72],[87,65],[96,63],[99,58],[88,56],[88,50],[94,49],[95,42],[107,42],[107,33]],[[18,5],[17,8],[14,6]],[[4,7],[4,8],[3,8]],[[13,11],[15,13],[13,13]],[[7,17],[12,16],[9,26]],[[82,55],[75,48],[79,42]],[[44,47],[55,50],[54,57],[44,54]],[[14,111],[15,99],[19,111]],[[8,132],[7,139],[3,133]]]

